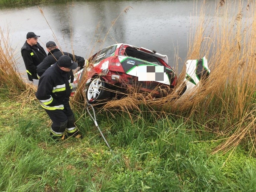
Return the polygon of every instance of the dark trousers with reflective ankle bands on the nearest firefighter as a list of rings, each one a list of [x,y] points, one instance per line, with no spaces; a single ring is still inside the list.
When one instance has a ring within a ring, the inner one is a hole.
[[[65,129],[68,133],[73,133],[77,130],[75,126],[75,115],[70,108],[69,102],[63,103],[63,110],[47,110],[46,113],[49,115],[52,120],[51,132],[55,136],[62,136]]]

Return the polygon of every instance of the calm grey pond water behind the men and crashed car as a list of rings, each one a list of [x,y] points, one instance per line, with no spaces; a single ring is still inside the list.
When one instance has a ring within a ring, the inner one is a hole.
[[[20,48],[29,31],[41,35],[38,42],[44,48],[47,41],[57,40],[63,51],[73,50],[84,58],[96,53],[101,46],[126,43],[166,54],[169,65],[175,67],[175,53],[178,52],[180,59],[176,71],[180,72],[187,57],[190,31],[198,22],[202,2],[75,1],[0,8],[0,26],[6,33],[9,30],[17,66],[23,74],[26,70]],[[206,5],[209,17],[216,3],[206,1]],[[123,10],[127,7],[129,10],[125,13]]]

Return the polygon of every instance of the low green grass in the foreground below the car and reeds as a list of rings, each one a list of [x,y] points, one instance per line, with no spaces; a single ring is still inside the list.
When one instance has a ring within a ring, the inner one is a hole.
[[[84,139],[55,142],[37,103],[0,97],[0,191],[255,191],[256,159],[240,144],[211,154],[221,139],[193,121],[150,111],[97,114],[112,154],[88,114]],[[143,108],[143,107],[142,107]],[[76,116],[78,113],[76,111]],[[201,131],[200,131],[201,130]]]

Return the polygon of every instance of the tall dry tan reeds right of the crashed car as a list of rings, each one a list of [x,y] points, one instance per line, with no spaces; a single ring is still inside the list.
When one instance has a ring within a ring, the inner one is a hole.
[[[203,113],[217,120],[211,129],[227,138],[216,151],[229,151],[245,142],[255,153],[256,3],[235,4],[221,1],[210,22],[201,20],[191,37],[188,56],[200,58],[212,52],[208,60],[212,72],[204,91],[193,102],[185,102],[184,109],[190,106],[192,115]]]

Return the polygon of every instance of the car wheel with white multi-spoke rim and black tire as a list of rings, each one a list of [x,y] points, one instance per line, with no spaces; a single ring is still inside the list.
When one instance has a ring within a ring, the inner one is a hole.
[[[86,99],[90,104],[99,104],[109,101],[111,91],[108,84],[100,76],[92,78],[86,90]]]

